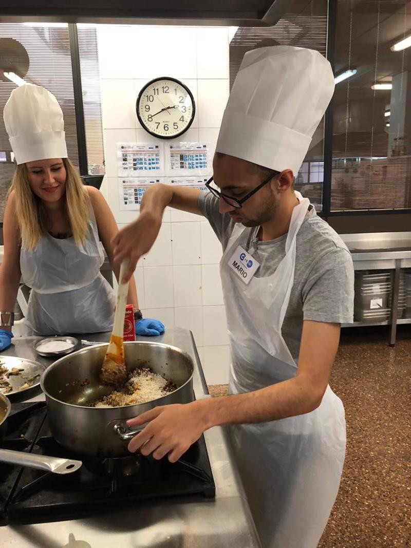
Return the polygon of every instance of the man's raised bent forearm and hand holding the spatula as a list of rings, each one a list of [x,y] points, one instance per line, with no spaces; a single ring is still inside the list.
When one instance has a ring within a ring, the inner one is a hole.
[[[164,209],[170,206],[202,215],[198,206],[199,195],[197,189],[162,184],[152,185],[145,191],[139,218],[119,231],[112,241],[115,263],[119,265],[123,259],[129,260],[124,282],[130,279],[137,261],[150,251],[156,241]]]

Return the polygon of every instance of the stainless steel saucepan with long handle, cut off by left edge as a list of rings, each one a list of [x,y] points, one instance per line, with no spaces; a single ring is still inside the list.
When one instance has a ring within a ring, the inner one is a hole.
[[[7,431],[6,421],[10,414],[10,409],[9,399],[0,394],[0,437],[3,437]],[[38,468],[56,474],[75,472],[82,465],[82,462],[79,460],[59,459],[55,456],[35,455],[22,451],[11,451],[9,449],[0,449],[0,462]]]

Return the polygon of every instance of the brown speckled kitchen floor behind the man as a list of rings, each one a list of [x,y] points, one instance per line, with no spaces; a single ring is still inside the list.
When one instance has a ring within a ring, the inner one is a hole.
[[[411,547],[411,326],[344,329],[330,385],[343,400],[347,454],[319,548]],[[210,387],[213,395],[226,385]]]

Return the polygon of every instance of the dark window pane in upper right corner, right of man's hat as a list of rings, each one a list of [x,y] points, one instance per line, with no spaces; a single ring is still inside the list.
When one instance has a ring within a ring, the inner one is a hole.
[[[331,210],[409,208],[411,48],[395,44],[411,10],[404,0],[337,9]]]

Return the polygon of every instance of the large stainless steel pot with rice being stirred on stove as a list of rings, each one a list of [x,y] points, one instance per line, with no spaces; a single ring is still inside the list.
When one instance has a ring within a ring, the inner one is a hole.
[[[91,346],[60,358],[45,370],[45,393],[52,435],[76,453],[116,457],[127,455],[127,419],[157,406],[193,401],[194,362],[183,350],[162,343],[124,343],[128,380],[124,386],[102,384],[99,378],[107,344]]]

